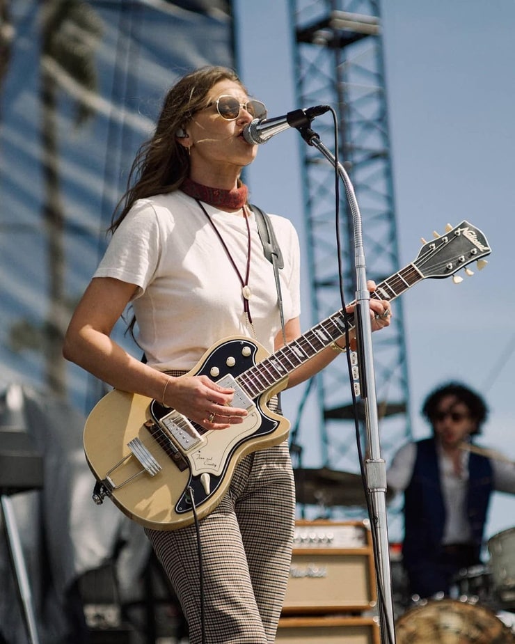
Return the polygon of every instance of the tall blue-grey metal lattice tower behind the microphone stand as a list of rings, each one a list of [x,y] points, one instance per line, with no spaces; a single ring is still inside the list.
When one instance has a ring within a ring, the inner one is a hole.
[[[328,104],[337,113],[340,162],[351,178],[363,220],[367,278],[379,284],[402,268],[397,253],[379,0],[290,0],[290,11],[298,104]],[[312,128],[334,152],[333,121],[320,117]],[[304,144],[303,187],[315,323],[341,308],[335,178],[331,164]],[[348,303],[355,297],[356,280],[343,185],[340,200],[342,277]],[[373,339],[381,452],[388,459],[411,435],[401,301],[395,304],[390,328],[374,333]],[[314,384],[324,466],[356,472],[351,384],[344,359],[333,361]]]

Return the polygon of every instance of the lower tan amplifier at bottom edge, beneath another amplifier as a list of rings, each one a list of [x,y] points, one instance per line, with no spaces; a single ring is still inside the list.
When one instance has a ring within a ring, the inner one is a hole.
[[[280,644],[379,644],[379,624],[365,617],[283,617],[276,642]]]

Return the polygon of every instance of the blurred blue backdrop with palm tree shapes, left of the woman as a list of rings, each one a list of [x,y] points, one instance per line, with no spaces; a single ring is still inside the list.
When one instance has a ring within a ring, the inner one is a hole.
[[[64,361],[63,334],[168,87],[235,66],[230,2],[3,0],[0,12],[0,386],[87,412],[103,386]],[[116,338],[138,351],[121,322]]]

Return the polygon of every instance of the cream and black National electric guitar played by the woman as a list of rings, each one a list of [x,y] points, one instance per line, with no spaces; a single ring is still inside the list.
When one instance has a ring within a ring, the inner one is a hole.
[[[377,285],[372,298],[393,300],[425,278],[445,278],[491,249],[468,221],[425,243],[417,258]],[[470,274],[470,270],[466,269]],[[458,276],[454,281],[461,281]],[[354,327],[354,316],[347,314]],[[86,421],[84,452],[97,479],[93,499],[109,496],[127,517],[157,530],[175,530],[212,512],[242,457],[276,445],[290,423],[267,407],[290,372],[344,333],[342,310],[269,355],[255,340],[230,337],[208,350],[188,375],[207,375],[235,389],[232,405],[248,411],[243,423],[205,430],[175,409],[143,395],[113,390]],[[193,503],[192,503],[193,499]]]

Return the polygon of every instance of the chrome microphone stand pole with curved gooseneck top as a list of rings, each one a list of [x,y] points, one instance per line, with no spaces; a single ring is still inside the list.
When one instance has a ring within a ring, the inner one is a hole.
[[[372,531],[377,534],[374,555],[377,558],[377,597],[379,606],[379,625],[382,644],[395,644],[395,625],[393,620],[393,594],[390,574],[390,549],[388,544],[388,524],[386,521],[386,464],[381,458],[379,443],[379,421],[372,355],[372,327],[370,323],[370,292],[367,289],[365,272],[365,251],[361,228],[361,213],[351,181],[344,167],[336,162],[333,153],[324,146],[316,132],[309,127],[299,127],[302,138],[328,159],[338,171],[344,182],[347,199],[351,207],[354,228],[354,260],[356,263],[356,340],[360,365],[361,398],[365,407],[365,427],[369,457],[365,460],[365,479],[370,493],[373,516]]]

